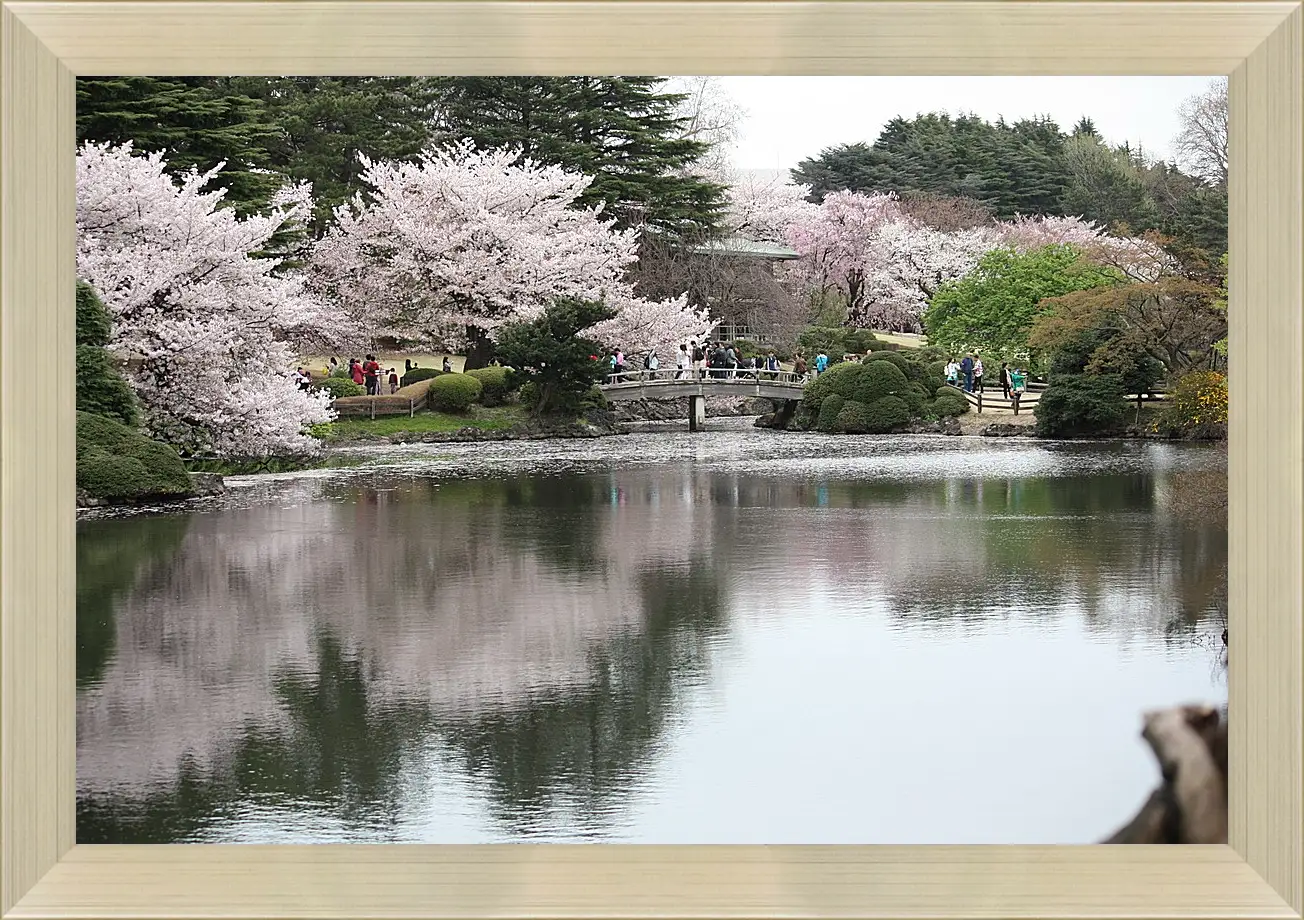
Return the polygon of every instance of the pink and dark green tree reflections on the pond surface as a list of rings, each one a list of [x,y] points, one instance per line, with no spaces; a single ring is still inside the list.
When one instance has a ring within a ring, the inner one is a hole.
[[[194,839],[250,801],[383,839],[404,764],[432,744],[514,833],[556,807],[597,822],[730,601],[755,603],[730,576],[742,560],[882,594],[925,628],[1072,598],[1095,629],[1163,633],[1224,596],[1226,524],[1167,515],[1162,485],[649,467],[323,481],[291,507],[104,521],[78,543],[78,679],[94,684],[78,839]]]

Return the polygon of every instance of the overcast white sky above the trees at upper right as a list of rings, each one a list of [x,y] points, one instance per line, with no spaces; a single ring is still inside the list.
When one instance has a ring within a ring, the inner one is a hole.
[[[994,121],[1048,115],[1071,130],[1084,115],[1111,143],[1168,158],[1178,106],[1213,77],[721,77],[747,111],[734,165],[790,169],[825,147],[872,142],[896,117],[947,111]]]

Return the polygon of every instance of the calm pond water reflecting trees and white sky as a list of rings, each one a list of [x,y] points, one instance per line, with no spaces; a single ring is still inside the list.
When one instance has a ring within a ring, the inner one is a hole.
[[[78,524],[78,841],[1088,843],[1226,698],[1201,446],[750,420]]]

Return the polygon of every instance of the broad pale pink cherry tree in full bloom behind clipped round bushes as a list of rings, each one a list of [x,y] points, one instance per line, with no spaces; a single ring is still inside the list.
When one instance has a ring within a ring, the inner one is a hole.
[[[314,287],[374,330],[466,344],[488,360],[505,324],[554,300],[602,300],[617,315],[589,334],[626,351],[670,348],[711,328],[686,297],[649,302],[626,270],[636,231],[576,206],[592,179],[469,142],[432,147],[411,163],[363,158],[370,188],[336,208],[318,242]]]

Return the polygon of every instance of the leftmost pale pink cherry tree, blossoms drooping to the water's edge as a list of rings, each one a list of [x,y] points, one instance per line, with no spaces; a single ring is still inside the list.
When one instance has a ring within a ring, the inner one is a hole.
[[[310,214],[309,190],[237,218],[220,206],[223,189],[207,190],[220,168],[173,180],[160,152],[83,145],[77,274],[113,314],[110,347],[128,358],[155,438],[193,455],[310,452],[305,429],[333,413],[325,395],[296,386],[288,340],[347,330],[301,278],[254,257]]]

